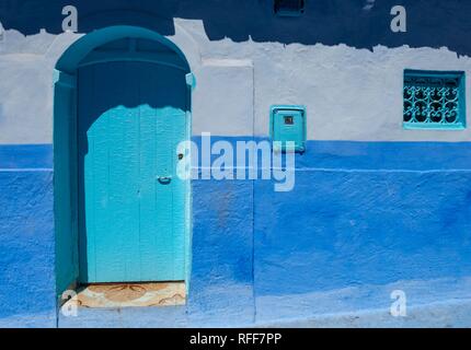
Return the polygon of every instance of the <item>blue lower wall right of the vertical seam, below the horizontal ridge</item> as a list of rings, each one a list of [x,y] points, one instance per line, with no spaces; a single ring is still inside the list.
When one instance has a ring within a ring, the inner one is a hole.
[[[471,276],[471,172],[310,170],[272,188],[255,185],[259,319],[389,307],[398,289],[438,301],[443,284],[414,283],[452,277],[449,298]]]

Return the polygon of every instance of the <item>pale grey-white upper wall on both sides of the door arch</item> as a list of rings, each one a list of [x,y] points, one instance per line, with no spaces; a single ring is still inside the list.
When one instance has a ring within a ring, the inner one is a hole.
[[[10,30],[0,42],[0,143],[53,142],[53,73],[81,35]],[[269,107],[306,105],[308,138],[358,141],[471,141],[463,131],[404,130],[404,69],[467,73],[471,115],[471,58],[447,48],[374,50],[346,45],[210,40],[200,20],[175,19],[170,39],[188,56],[197,79],[194,135],[267,136]]]

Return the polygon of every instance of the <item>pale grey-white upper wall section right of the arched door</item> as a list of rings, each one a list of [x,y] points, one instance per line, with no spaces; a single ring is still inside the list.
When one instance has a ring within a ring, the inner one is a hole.
[[[254,125],[244,132],[232,118],[214,118],[199,130],[217,130],[221,136],[268,135],[269,107],[276,104],[306,105],[308,108],[308,139],[358,141],[468,141],[470,131],[417,131],[402,128],[404,69],[463,70],[471,74],[471,59],[459,57],[447,48],[388,48],[376,46],[372,51],[346,45],[317,44],[282,45],[278,43],[240,43],[230,39],[221,43],[202,43],[203,57],[217,57],[219,66],[227,60],[250,59],[254,71]],[[215,52],[217,52],[215,55]],[[209,78],[212,59],[203,60],[205,70],[197,78],[205,85],[212,82],[222,101],[231,93],[244,69],[227,69],[225,79]],[[242,65],[242,63],[240,63]],[[249,66],[249,63],[246,65]],[[250,67],[249,66],[249,67]],[[249,68],[248,67],[248,68]],[[248,69],[246,68],[246,69]],[[220,68],[219,68],[220,69]],[[209,73],[209,74],[207,74]],[[229,85],[226,88],[225,85]],[[217,86],[217,88],[216,88]],[[240,88],[239,88],[240,89]],[[467,79],[467,97],[471,81]],[[242,90],[241,90],[242,91]],[[217,96],[218,94],[216,94]],[[238,98],[241,94],[230,94]],[[207,109],[215,106],[212,94],[199,90],[195,93],[195,120],[206,120]],[[232,106],[234,101],[228,104]],[[241,102],[244,101],[241,98]],[[245,100],[246,101],[246,100]],[[243,103],[243,102],[242,102]],[[206,109],[199,108],[206,106]],[[468,115],[471,106],[467,106]],[[220,110],[216,108],[215,110]],[[228,108],[228,110],[231,110]],[[205,114],[206,113],[206,114]],[[229,116],[230,116],[229,112]],[[242,117],[243,118],[243,117]],[[243,119],[242,119],[243,120]],[[242,121],[243,122],[243,121]],[[243,122],[244,125],[244,122]],[[252,131],[253,130],[253,131]]]

